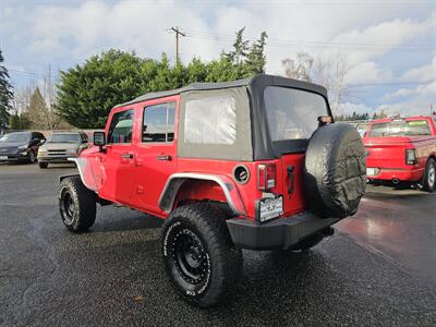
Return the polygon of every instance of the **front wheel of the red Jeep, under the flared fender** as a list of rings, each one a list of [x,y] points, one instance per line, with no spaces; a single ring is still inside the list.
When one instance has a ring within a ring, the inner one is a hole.
[[[70,231],[86,231],[96,218],[96,195],[82,183],[78,175],[65,178],[59,190],[59,210],[63,225]]]

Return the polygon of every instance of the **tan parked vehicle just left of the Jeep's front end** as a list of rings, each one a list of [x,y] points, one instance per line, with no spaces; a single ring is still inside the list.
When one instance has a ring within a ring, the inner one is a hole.
[[[45,169],[49,164],[71,164],[68,159],[77,157],[88,145],[88,136],[84,132],[53,132],[39,148],[39,168]]]

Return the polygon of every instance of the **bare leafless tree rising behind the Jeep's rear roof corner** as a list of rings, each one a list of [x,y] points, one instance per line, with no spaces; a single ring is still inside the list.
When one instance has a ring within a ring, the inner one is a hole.
[[[295,59],[287,58],[281,63],[286,76],[326,87],[334,114],[342,113],[341,104],[352,96],[351,88],[347,84],[350,66],[342,53],[337,53],[334,58],[325,59],[318,56],[315,59],[307,52],[298,52]]]

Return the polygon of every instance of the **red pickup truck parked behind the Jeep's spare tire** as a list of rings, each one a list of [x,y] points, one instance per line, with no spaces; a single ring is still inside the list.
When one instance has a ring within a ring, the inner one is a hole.
[[[366,175],[372,181],[419,184],[436,189],[436,118],[416,116],[378,119],[363,137],[368,152]]]

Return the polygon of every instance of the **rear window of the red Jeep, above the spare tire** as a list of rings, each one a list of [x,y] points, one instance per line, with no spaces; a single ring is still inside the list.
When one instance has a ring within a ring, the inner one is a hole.
[[[267,86],[264,97],[272,141],[307,140],[318,126],[318,117],[328,114],[324,97],[311,92]]]

